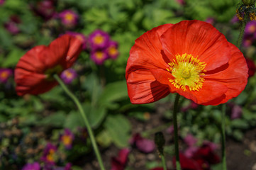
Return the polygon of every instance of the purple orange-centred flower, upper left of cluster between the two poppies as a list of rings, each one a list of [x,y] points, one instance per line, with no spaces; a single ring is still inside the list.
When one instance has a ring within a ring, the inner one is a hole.
[[[109,35],[103,30],[94,30],[91,35],[89,35],[89,44],[92,50],[99,50],[108,47]]]

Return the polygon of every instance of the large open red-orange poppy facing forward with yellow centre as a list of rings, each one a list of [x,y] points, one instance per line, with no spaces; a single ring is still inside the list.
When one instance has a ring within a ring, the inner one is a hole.
[[[178,93],[218,105],[247,84],[242,52],[211,24],[181,21],[153,28],[135,40],[126,67],[131,103],[151,103]]]

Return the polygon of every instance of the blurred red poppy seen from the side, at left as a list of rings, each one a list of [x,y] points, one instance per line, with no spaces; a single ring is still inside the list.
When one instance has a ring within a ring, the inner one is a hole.
[[[72,35],[62,35],[49,46],[38,45],[26,52],[18,61],[14,71],[16,92],[43,94],[57,85],[53,74],[72,66],[82,51],[82,42]]]

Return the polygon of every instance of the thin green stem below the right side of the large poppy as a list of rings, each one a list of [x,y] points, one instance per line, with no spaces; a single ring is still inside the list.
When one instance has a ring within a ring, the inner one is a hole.
[[[225,113],[226,113],[226,104],[222,105],[221,109],[221,154],[222,154],[222,169],[227,169],[226,164],[226,136],[225,136]]]

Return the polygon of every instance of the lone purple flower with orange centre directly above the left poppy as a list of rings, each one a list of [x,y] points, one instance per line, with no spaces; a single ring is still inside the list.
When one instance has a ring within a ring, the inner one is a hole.
[[[79,16],[72,10],[65,10],[59,13],[62,24],[67,27],[74,27],[77,25]]]

